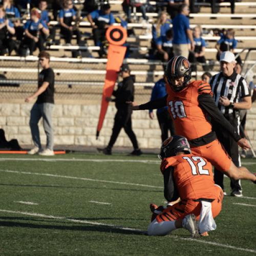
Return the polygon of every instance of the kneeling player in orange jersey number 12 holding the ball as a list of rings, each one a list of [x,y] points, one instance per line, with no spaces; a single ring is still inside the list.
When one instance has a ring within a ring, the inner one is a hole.
[[[221,211],[223,192],[214,184],[212,167],[206,159],[191,154],[188,141],[183,136],[166,139],[161,147],[161,172],[164,177],[164,197],[180,202],[163,208],[151,204],[152,222],[147,232],[150,236],[165,235],[176,228],[186,228],[191,237],[199,237],[216,229],[214,218]],[[199,220],[197,226],[196,220]]]

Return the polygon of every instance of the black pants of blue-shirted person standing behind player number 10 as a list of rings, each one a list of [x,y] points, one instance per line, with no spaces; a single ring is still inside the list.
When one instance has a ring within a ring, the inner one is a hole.
[[[162,142],[168,138],[168,131],[170,131],[172,136],[175,135],[174,123],[168,110],[164,110],[160,113],[157,112],[157,119],[161,129]]]

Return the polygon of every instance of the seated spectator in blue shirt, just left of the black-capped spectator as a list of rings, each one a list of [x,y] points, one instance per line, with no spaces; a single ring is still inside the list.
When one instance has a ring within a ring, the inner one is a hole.
[[[77,45],[81,42],[81,32],[72,22],[76,20],[76,11],[73,9],[72,0],[65,0],[64,8],[59,11],[60,33],[63,35],[66,44],[71,44],[73,34],[76,35]]]

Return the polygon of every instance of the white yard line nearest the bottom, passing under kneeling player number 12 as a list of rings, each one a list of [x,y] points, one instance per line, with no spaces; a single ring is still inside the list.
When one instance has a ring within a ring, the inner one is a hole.
[[[20,214],[20,215],[35,216],[35,217],[41,217],[41,218],[47,218],[47,219],[67,220],[67,221],[71,221],[71,222],[90,224],[90,225],[96,225],[96,226],[105,226],[105,227],[115,228],[115,229],[119,229],[119,230],[130,230],[130,231],[135,231],[135,232],[139,232],[139,233],[142,233],[142,234],[146,233],[145,230],[136,229],[136,228],[122,227],[122,226],[116,226],[116,225],[112,225],[112,224],[104,224],[104,223],[100,223],[100,222],[75,220],[75,219],[71,219],[71,218],[58,217],[58,216],[52,216],[52,215],[36,214],[34,212],[12,211],[12,210],[5,210],[5,209],[0,209],[0,211],[7,212],[7,213],[10,213],[10,214]],[[220,243],[215,243],[215,242],[210,242],[210,241],[204,241],[204,240],[200,240],[200,239],[180,238],[180,237],[176,237],[176,236],[175,236],[175,239],[185,240],[185,241],[189,241],[189,242],[209,244],[209,245],[218,246],[218,247],[224,247],[224,248],[229,248],[229,249],[234,249],[234,250],[256,253],[256,250],[236,247],[236,246],[232,246],[232,245],[220,244]]]

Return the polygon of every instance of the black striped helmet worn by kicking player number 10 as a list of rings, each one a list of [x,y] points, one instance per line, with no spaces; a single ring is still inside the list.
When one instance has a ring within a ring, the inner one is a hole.
[[[182,86],[176,87],[172,84],[171,79],[184,77]],[[191,66],[189,61],[183,56],[176,56],[169,60],[165,69],[166,82],[173,88],[174,91],[179,92],[183,90],[187,82],[191,79]]]

